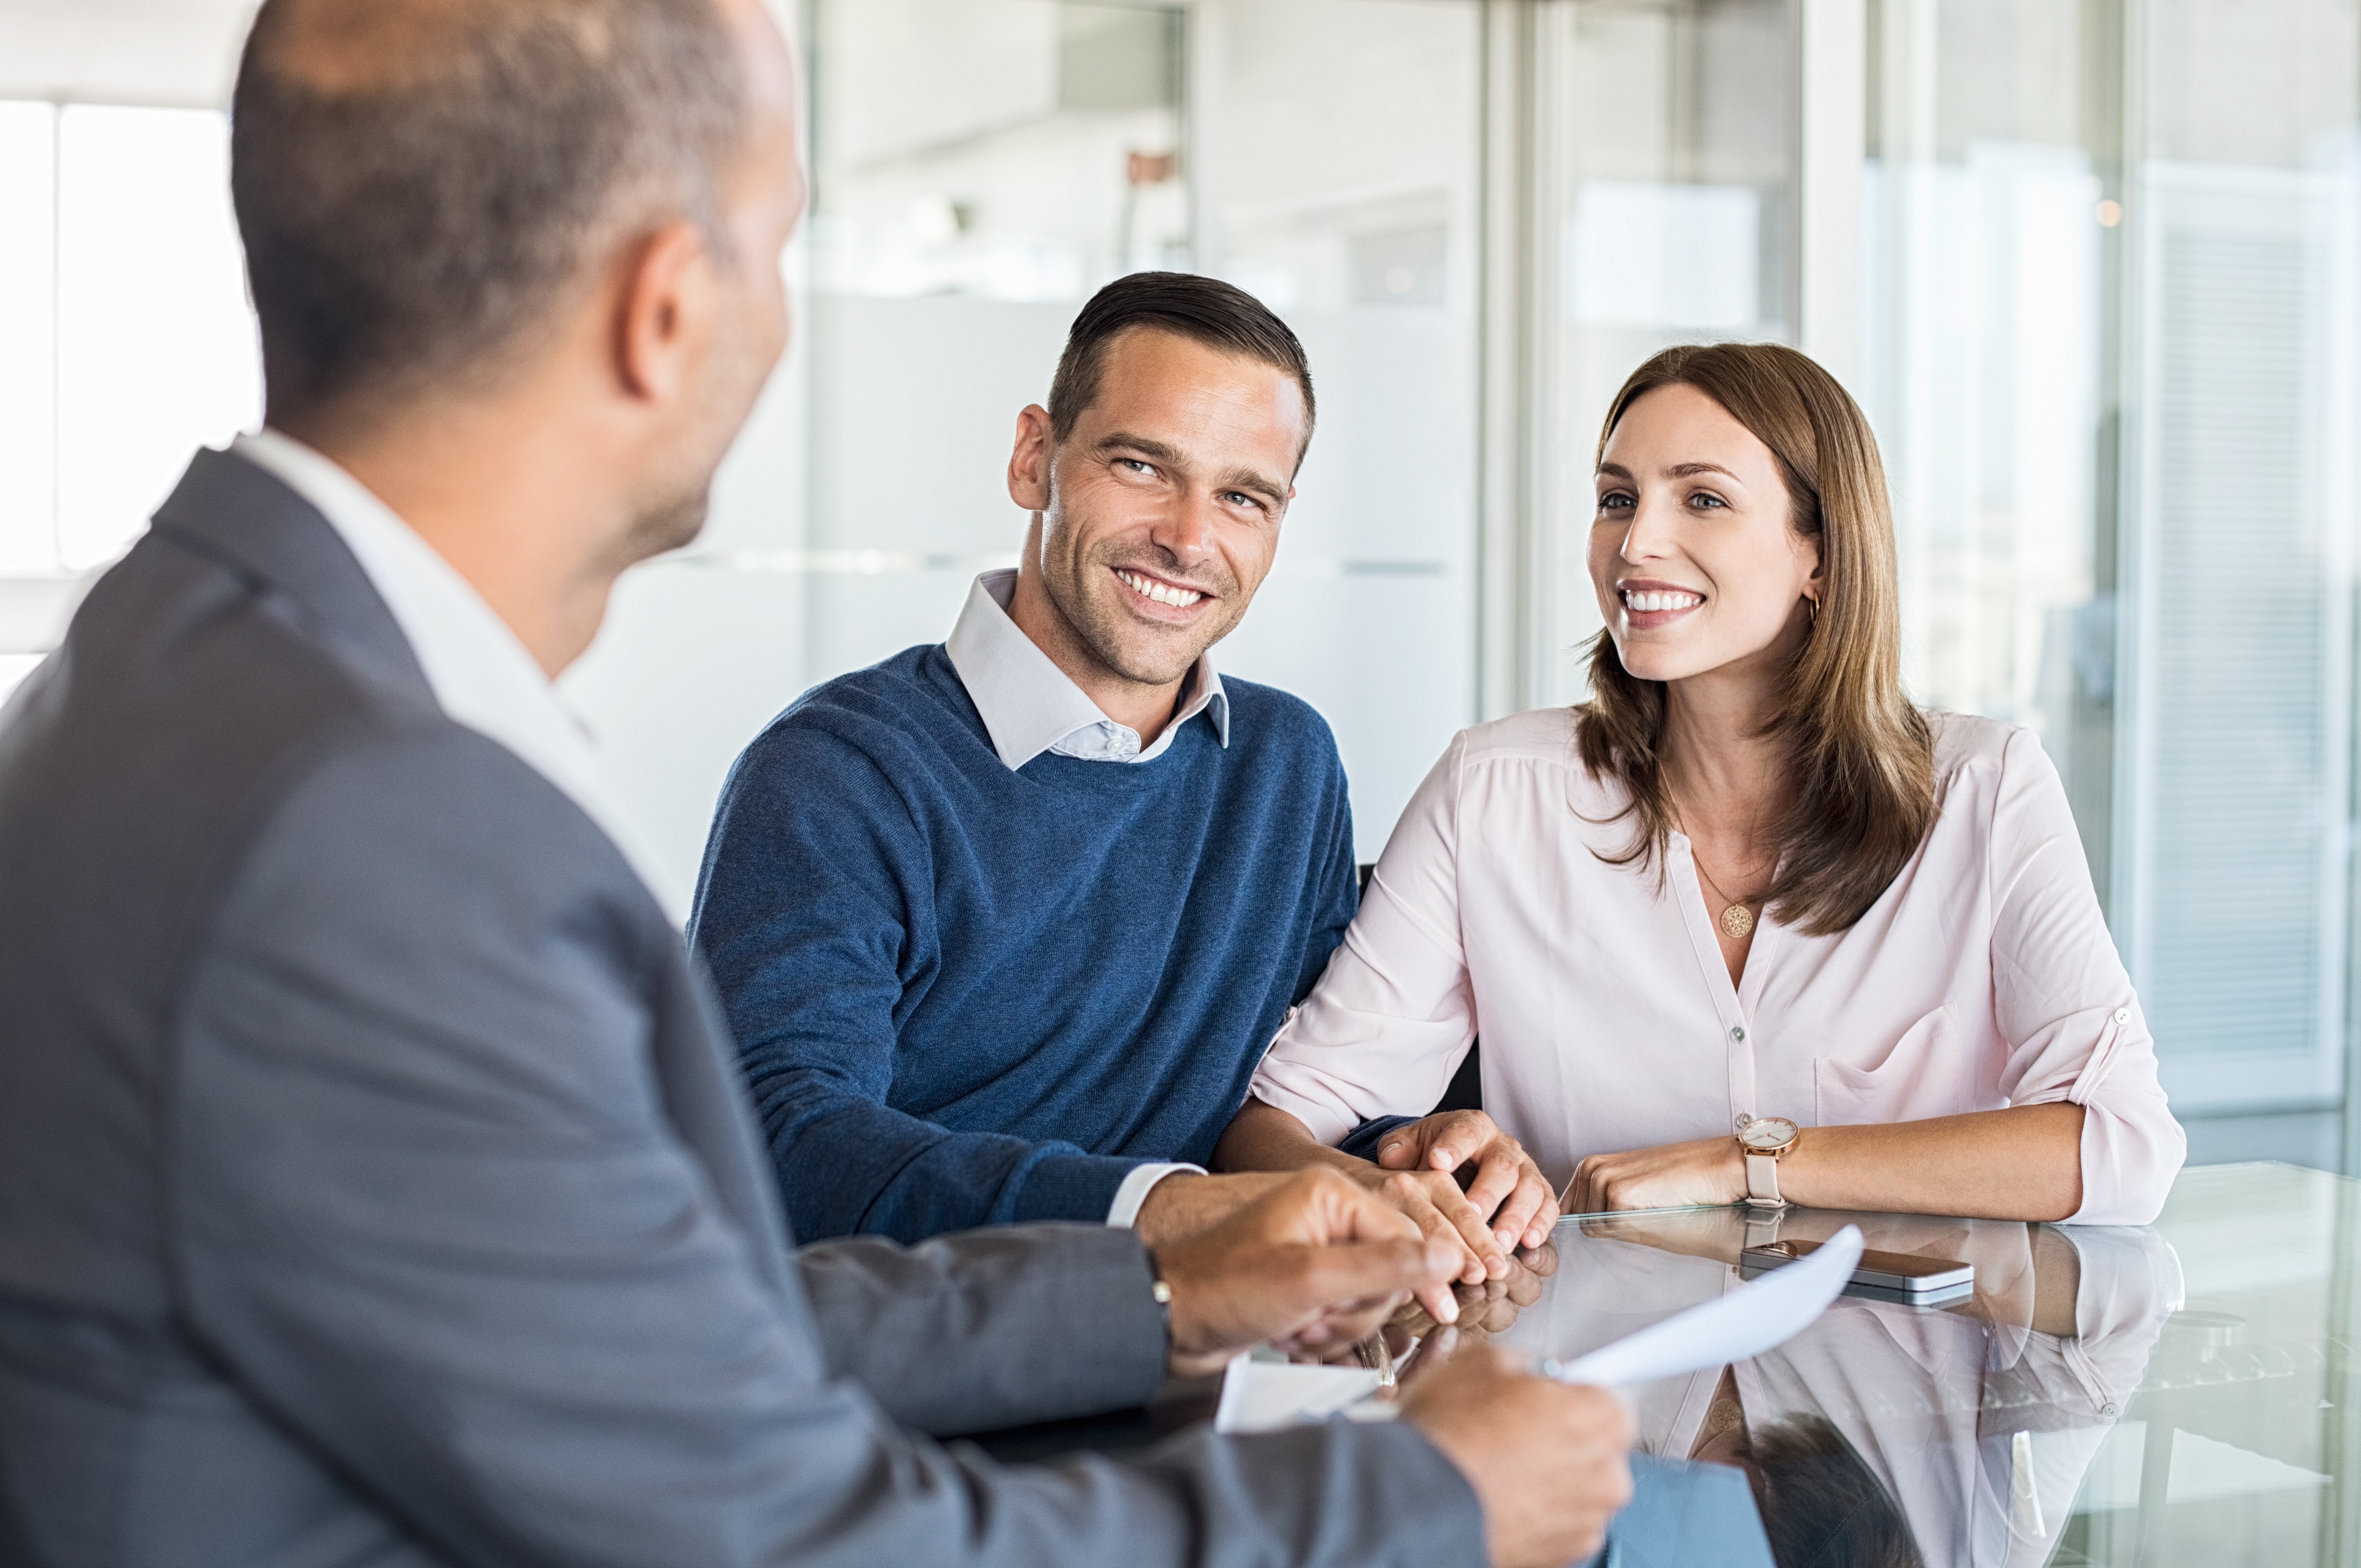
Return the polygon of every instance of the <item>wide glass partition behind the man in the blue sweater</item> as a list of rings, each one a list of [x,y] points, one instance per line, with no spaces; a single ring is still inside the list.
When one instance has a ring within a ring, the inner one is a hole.
[[[1081,302],[1150,267],[1232,279],[1303,338],[1317,435],[1216,664],[1327,716],[1374,860],[1476,716],[1480,12],[812,0],[800,21],[798,359],[708,538],[640,574],[574,682],[626,734],[616,763],[682,881],[763,718],[942,640],[975,574],[1015,564],[1018,411],[1048,397]],[[696,694],[715,682],[732,694]]]

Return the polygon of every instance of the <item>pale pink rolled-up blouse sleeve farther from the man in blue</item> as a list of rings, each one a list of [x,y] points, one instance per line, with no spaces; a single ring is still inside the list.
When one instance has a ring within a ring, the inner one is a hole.
[[[2092,893],[2056,767],[2028,732],[2002,751],[1993,796],[1993,1015],[2009,1041],[2012,1105],[2068,1100],[2082,1117],[2080,1226],[2146,1226],[2189,1138],[2156,1077],[2156,1041]]]

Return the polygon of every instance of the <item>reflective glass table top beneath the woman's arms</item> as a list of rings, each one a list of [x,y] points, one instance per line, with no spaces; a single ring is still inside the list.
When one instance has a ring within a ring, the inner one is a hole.
[[[1830,1566],[1905,1542],[1929,1568],[2361,1563],[2361,1183],[2200,1167],[2146,1228],[1792,1209],[1775,1235],[1844,1223],[1974,1263],[1976,1294],[1846,1296],[1728,1381],[1634,1391],[1648,1452],[1752,1450],[1773,1542]],[[1742,1209],[1565,1219],[1495,1344],[1596,1348],[1733,1289],[1764,1240]]]

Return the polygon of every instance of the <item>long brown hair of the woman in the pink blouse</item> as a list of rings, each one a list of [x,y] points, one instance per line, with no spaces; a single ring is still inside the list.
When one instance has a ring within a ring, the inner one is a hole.
[[[1657,387],[1695,387],[1754,432],[1787,482],[1792,527],[1820,545],[1820,607],[1764,734],[1785,739],[1794,793],[1773,824],[1768,914],[1806,935],[1846,930],[1917,852],[1934,822],[1934,737],[1903,697],[1894,515],[1877,437],[1853,399],[1804,354],[1775,342],[1674,347],[1631,371],[1598,432]],[[1591,701],[1577,708],[1591,777],[1631,793],[1636,841],[1613,864],[1662,864],[1672,791],[1657,741],[1665,682],[1622,666],[1608,633],[1591,642]]]

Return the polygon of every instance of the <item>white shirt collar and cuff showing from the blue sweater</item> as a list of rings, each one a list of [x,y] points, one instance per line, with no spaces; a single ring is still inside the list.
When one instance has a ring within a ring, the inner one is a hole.
[[[1098,711],[1079,685],[1044,654],[1015,621],[1008,619],[1008,600],[1015,597],[1018,574],[1013,567],[985,571],[968,588],[968,602],[959,612],[959,626],[944,640],[959,685],[968,687],[968,701],[985,716],[985,732],[992,749],[1015,772],[1044,751],[1081,758],[1086,763],[1152,763],[1173,744],[1180,725],[1199,713],[1214,725],[1221,744],[1230,744],[1230,697],[1214,673],[1214,656],[1197,654],[1188,678],[1180,682],[1180,711],[1152,746],[1140,746],[1140,732],[1119,725]],[[1124,1176],[1107,1204],[1110,1226],[1129,1226],[1147,1202],[1147,1188],[1173,1171],[1204,1174],[1202,1164],[1140,1164]]]

